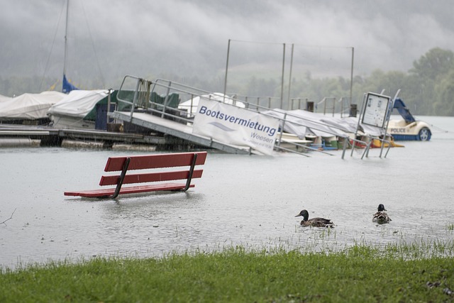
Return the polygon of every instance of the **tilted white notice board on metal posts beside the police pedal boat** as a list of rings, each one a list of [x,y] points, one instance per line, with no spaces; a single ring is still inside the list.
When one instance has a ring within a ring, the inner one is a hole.
[[[390,98],[380,94],[367,93],[362,123],[383,128],[389,109]]]

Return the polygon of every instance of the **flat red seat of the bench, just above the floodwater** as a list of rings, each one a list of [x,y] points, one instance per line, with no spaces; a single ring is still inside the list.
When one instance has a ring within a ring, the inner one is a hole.
[[[165,183],[165,184],[152,184],[152,185],[141,185],[133,187],[121,187],[120,194],[137,194],[140,192],[157,192],[165,190],[179,190],[184,189],[186,184],[183,183]],[[191,184],[190,187],[194,187],[194,184]],[[115,188],[108,189],[94,189],[94,190],[84,190],[80,192],[65,192],[65,196],[77,196],[77,197],[87,197],[87,198],[96,198],[96,197],[106,197],[114,194]]]

